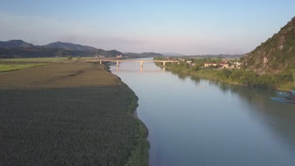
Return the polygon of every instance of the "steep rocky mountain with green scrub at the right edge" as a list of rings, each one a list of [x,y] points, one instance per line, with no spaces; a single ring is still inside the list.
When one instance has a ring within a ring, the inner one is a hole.
[[[241,59],[246,69],[258,74],[295,69],[295,17],[278,33]]]

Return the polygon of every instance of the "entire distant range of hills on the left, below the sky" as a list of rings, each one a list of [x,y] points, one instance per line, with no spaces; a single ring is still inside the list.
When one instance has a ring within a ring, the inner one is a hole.
[[[54,42],[44,46],[35,46],[23,40],[0,41],[0,58],[20,58],[20,57],[54,57],[54,56],[95,56],[103,55],[105,57],[123,56],[133,58],[144,58],[163,56],[155,52],[143,53],[122,53],[117,50],[102,50],[90,46],[82,46],[73,43]]]

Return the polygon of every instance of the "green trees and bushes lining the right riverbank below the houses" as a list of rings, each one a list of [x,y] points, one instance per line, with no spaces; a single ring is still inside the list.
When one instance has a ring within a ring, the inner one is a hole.
[[[156,59],[159,60],[160,58],[155,57]],[[204,67],[205,62],[218,63],[218,59],[202,58],[193,59],[192,61],[196,66],[192,66],[185,61],[180,61],[179,64],[166,63],[165,67],[229,83],[272,88],[295,88],[295,70],[286,70],[279,74],[259,75],[246,69],[212,69]],[[162,64],[159,63],[157,65],[161,66]]]

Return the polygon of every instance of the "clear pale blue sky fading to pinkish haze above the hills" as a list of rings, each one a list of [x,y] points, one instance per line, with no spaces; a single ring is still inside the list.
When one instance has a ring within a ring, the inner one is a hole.
[[[295,0],[1,0],[0,41],[243,54],[294,16]]]

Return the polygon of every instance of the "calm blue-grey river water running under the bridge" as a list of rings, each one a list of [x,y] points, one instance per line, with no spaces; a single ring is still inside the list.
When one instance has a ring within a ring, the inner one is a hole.
[[[124,62],[111,71],[139,98],[150,166],[295,166],[295,104],[274,90]],[[204,85],[206,88],[198,87]]]

